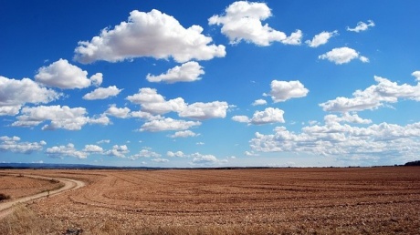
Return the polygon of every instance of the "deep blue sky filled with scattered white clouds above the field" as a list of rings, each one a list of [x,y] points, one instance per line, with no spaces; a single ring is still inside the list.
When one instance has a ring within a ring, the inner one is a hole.
[[[416,0],[0,0],[0,162],[420,158]]]

